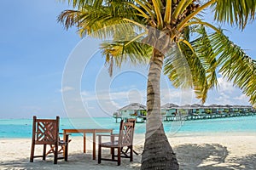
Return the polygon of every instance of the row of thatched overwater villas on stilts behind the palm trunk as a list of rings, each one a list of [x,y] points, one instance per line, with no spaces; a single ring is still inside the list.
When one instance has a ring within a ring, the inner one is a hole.
[[[253,116],[255,109],[251,105],[175,105],[168,103],[161,106],[163,121],[189,121],[197,119],[212,119],[232,116]],[[113,113],[118,120],[135,118],[137,122],[145,122],[147,117],[146,105],[131,103]]]

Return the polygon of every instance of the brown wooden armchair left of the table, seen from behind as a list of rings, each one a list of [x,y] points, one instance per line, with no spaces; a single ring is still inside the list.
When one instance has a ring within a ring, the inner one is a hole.
[[[43,157],[43,160],[45,160],[45,157],[50,153],[54,154],[55,164],[57,163],[58,159],[65,159],[65,161],[67,161],[67,150],[70,140],[68,139],[68,134],[66,135],[65,141],[60,139],[59,122],[59,116],[56,116],[56,119],[37,119],[37,116],[33,116],[32,148],[30,156],[31,162],[33,162],[35,157]],[[41,144],[44,146],[42,156],[34,156],[36,144]],[[46,152],[47,145],[50,146],[48,152]],[[65,151],[64,156],[62,155],[59,157],[58,155],[63,154],[63,151]]]

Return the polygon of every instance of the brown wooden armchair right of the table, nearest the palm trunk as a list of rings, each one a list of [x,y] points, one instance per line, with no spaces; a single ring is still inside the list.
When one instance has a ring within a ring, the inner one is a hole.
[[[125,156],[121,156],[122,149],[127,146],[132,150],[133,144],[133,134],[134,134],[134,123],[133,122],[124,122],[123,120],[120,122],[119,134],[112,135],[98,135],[99,137],[99,147],[98,147],[98,163],[103,161],[117,161],[118,165],[121,164],[121,157],[130,158],[130,161],[133,161],[132,151],[130,152],[130,156],[127,154]],[[110,142],[102,143],[102,136],[110,137]],[[114,138],[118,137],[118,140]],[[102,148],[110,148],[112,158],[102,158]],[[117,159],[114,159],[114,150],[117,149]]]

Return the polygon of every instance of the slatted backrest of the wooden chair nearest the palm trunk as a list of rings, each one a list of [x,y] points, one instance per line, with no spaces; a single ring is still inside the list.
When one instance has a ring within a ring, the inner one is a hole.
[[[119,147],[130,146],[133,143],[135,122],[120,122]]]

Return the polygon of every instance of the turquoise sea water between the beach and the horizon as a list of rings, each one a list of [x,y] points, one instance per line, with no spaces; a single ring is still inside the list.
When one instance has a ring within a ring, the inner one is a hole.
[[[113,128],[119,123],[113,117],[61,118],[63,128]],[[145,133],[146,123],[137,123],[135,133]],[[256,116],[207,119],[186,122],[164,122],[167,136],[204,133],[255,133]],[[73,134],[82,135],[82,134]],[[32,119],[0,119],[0,139],[31,138]]]

